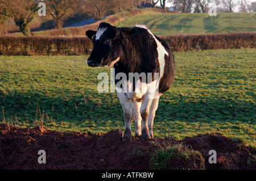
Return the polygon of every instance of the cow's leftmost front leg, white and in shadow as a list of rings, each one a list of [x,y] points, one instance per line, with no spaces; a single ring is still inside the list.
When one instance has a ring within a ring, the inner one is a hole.
[[[131,108],[130,99],[124,92],[117,93],[118,98],[123,108],[123,117],[125,118],[125,132],[123,133],[122,140],[127,138],[131,140],[131,118],[133,117],[133,109]]]

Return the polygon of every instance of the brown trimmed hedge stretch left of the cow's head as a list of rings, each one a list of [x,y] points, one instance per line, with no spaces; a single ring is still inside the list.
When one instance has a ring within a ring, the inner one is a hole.
[[[0,37],[1,55],[85,54],[92,48],[88,37]]]

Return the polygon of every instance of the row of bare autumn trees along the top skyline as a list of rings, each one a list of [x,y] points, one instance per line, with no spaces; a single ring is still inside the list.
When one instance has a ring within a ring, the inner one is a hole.
[[[256,2],[246,4],[245,0],[0,0],[0,26],[12,18],[24,35],[30,35],[30,24],[38,15],[41,8],[38,5],[42,2],[46,5],[46,15],[54,20],[55,28],[62,28],[63,20],[77,12],[98,20],[134,7],[166,10],[166,3],[170,2],[180,12],[208,12],[212,2],[221,3],[226,12],[232,12],[236,5],[240,5],[241,12],[256,11]]]

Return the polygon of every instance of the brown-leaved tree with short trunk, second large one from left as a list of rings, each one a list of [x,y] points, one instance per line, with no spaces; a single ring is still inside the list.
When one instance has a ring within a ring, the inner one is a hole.
[[[73,10],[79,6],[78,0],[45,0],[47,12],[52,16],[56,25],[55,28],[60,29],[63,26],[63,20],[71,15]]]

